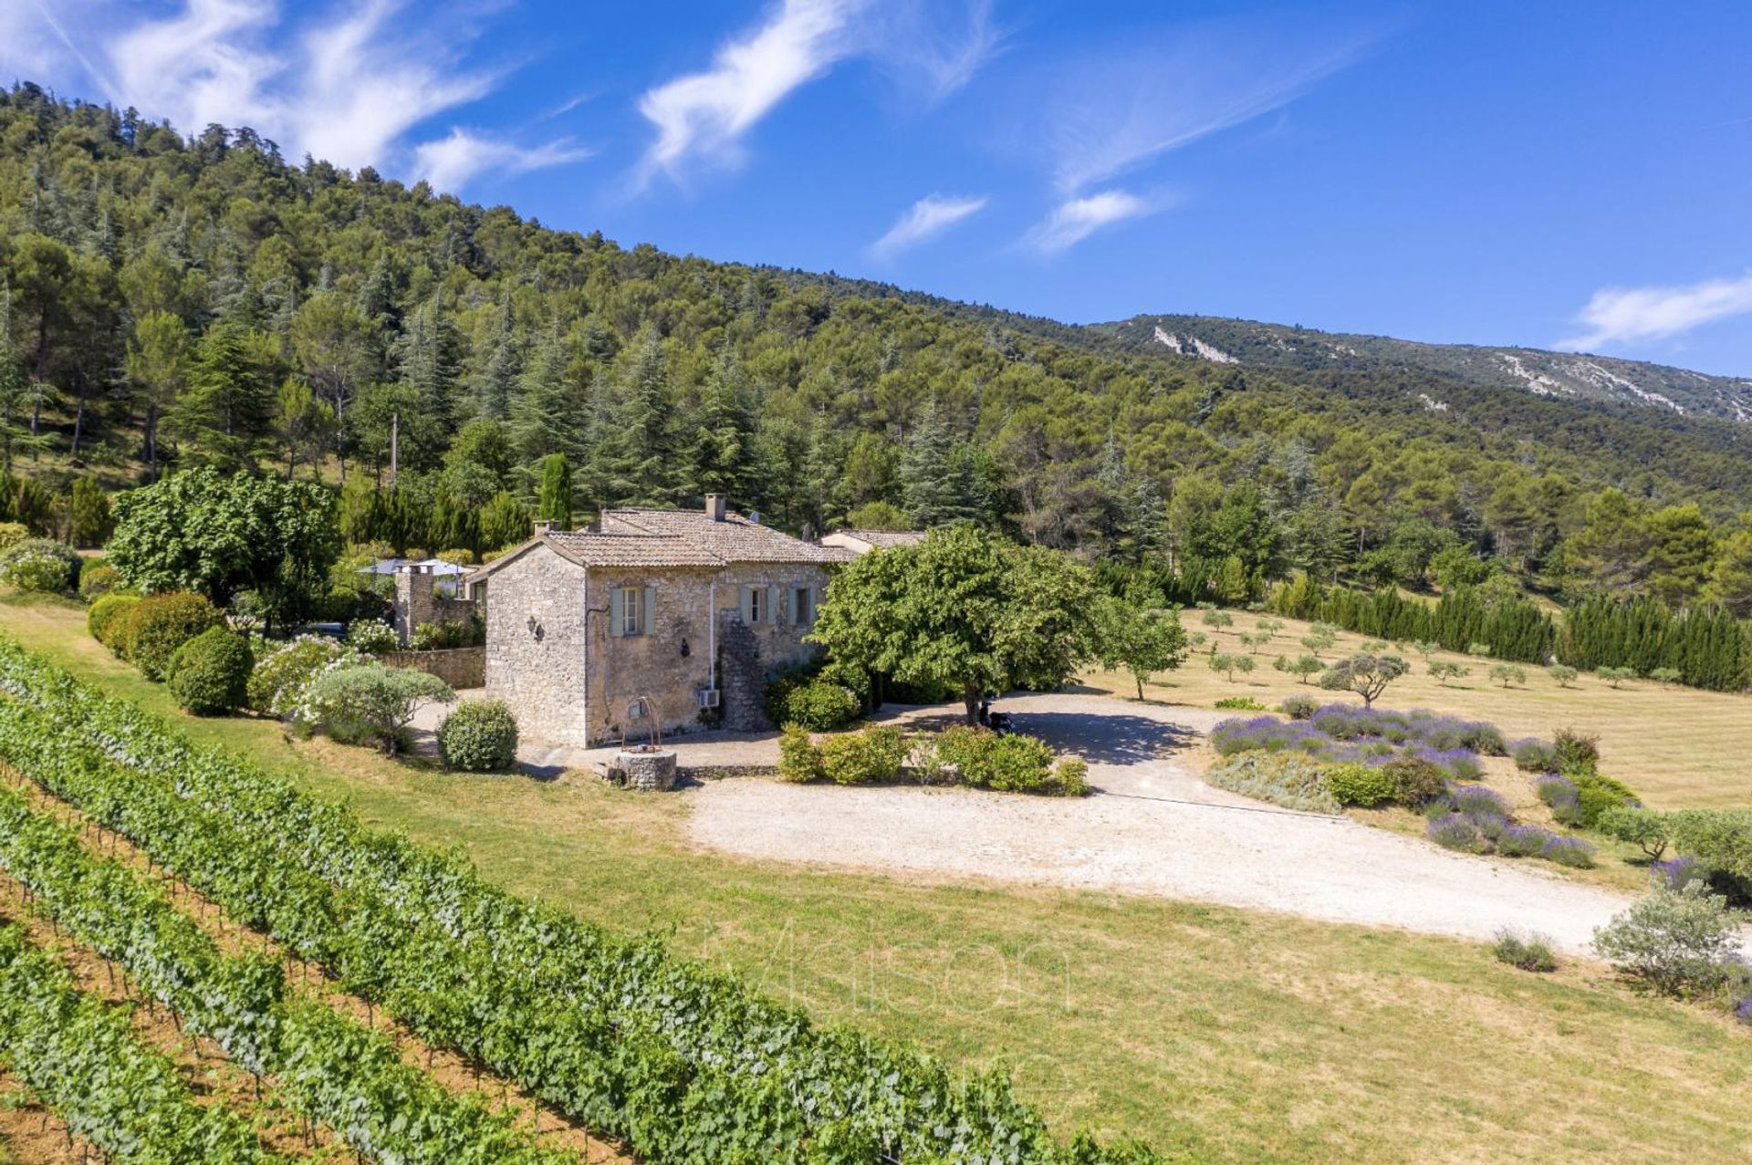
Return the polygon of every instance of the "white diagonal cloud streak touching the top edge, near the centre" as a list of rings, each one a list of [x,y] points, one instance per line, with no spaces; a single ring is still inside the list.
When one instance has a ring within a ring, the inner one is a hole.
[[[643,177],[703,159],[734,163],[745,133],[797,86],[855,47],[848,25],[864,0],[783,0],[767,19],[725,42],[711,68],[650,89],[639,112],[657,126]]]

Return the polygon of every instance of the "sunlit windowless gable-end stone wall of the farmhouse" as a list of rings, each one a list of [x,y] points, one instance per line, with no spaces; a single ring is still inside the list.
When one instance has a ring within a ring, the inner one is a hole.
[[[494,571],[489,592],[487,694],[531,739],[590,743],[583,568],[536,543]]]

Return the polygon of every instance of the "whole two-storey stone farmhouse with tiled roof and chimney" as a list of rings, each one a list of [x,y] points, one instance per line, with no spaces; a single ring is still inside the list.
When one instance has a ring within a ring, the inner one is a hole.
[[[851,557],[720,494],[703,510],[604,510],[583,531],[538,522],[468,580],[485,608],[487,692],[529,738],[569,745],[639,743],[653,720],[771,727],[766,676],[818,650],[802,636],[829,568]]]

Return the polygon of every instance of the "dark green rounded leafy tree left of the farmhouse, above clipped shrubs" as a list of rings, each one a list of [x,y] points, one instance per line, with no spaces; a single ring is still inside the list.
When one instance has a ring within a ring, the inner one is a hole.
[[[340,555],[335,494],[312,482],[186,470],[119,494],[109,562],[145,592],[226,604],[254,590],[270,625],[308,615]]]

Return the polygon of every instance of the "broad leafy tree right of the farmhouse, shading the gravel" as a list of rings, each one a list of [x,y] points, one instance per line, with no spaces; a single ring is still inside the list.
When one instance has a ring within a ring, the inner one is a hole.
[[[813,641],[848,666],[981,697],[1051,688],[1093,655],[1097,590],[1063,554],[972,524],[869,554],[827,589]]]

